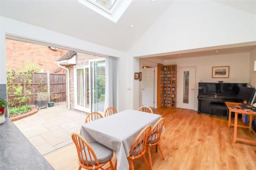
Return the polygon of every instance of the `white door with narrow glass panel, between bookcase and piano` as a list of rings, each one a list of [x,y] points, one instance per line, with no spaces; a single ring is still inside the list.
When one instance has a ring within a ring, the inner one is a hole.
[[[196,68],[179,67],[177,71],[177,107],[195,110]]]

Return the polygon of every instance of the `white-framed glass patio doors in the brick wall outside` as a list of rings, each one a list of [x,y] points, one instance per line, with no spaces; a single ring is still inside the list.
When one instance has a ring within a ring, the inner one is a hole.
[[[75,69],[75,108],[85,112],[104,112],[105,60],[89,61]]]

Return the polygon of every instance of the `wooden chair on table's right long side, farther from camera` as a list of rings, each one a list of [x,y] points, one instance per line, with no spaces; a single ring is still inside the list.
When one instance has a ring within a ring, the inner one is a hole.
[[[150,169],[152,169],[152,160],[151,160],[151,154],[150,154],[151,146],[155,146],[156,152],[158,152],[158,148],[159,148],[160,154],[162,155],[162,158],[164,160],[163,152],[159,145],[163,126],[164,126],[164,118],[161,118],[158,122],[156,122],[155,126],[152,128],[150,132],[150,135],[148,136],[147,152],[148,152],[148,159],[150,160]]]

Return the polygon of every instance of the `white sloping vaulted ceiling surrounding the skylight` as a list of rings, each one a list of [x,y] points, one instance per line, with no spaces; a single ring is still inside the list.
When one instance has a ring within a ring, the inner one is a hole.
[[[256,15],[255,0],[245,0],[242,1],[243,3],[211,1]],[[171,0],[134,0],[117,23],[81,5],[78,0],[2,0],[0,15],[127,52],[172,5],[172,2]],[[183,9],[179,11],[183,12]]]

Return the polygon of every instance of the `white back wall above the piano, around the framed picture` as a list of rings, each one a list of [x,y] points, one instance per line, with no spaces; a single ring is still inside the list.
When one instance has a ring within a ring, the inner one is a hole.
[[[196,110],[198,82],[218,82],[222,80],[225,83],[249,83],[249,63],[250,53],[168,59],[165,61],[166,65],[177,65],[178,70],[179,67],[196,67]],[[212,78],[213,66],[230,66],[229,78]],[[177,97],[181,97],[179,92],[177,92]]]

